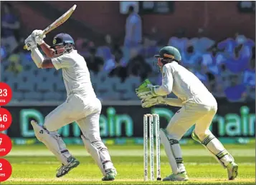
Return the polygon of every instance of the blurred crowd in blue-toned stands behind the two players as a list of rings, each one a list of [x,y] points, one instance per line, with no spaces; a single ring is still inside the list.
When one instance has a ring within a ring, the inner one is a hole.
[[[32,97],[35,100],[65,99],[65,96],[60,96],[60,92],[65,92],[64,86],[60,87],[63,84],[60,71],[47,69],[47,75],[44,75],[31,62],[29,52],[15,49],[21,40],[17,34],[20,27],[18,16],[8,4],[1,8],[1,81],[11,83],[14,99],[19,101]],[[102,46],[95,46],[89,38],[75,41],[75,48],[87,62],[99,98],[136,99],[134,89],[144,79],[161,84],[161,74],[153,55],[162,46],[170,45],[181,52],[181,65],[196,74],[217,98],[233,102],[255,101],[255,41],[240,33],[214,41],[201,28],[194,38],[187,38],[186,30],[180,28],[168,41],[161,38],[161,33],[154,26],[150,34],[143,35],[141,17],[132,6],[128,12],[123,44],[109,34],[105,36]],[[57,81],[50,81],[50,86],[38,82],[24,85],[29,90],[21,87],[20,80],[26,84],[40,75],[43,82],[51,77]],[[37,95],[33,96],[33,93]],[[51,96],[46,96],[47,93]]]

